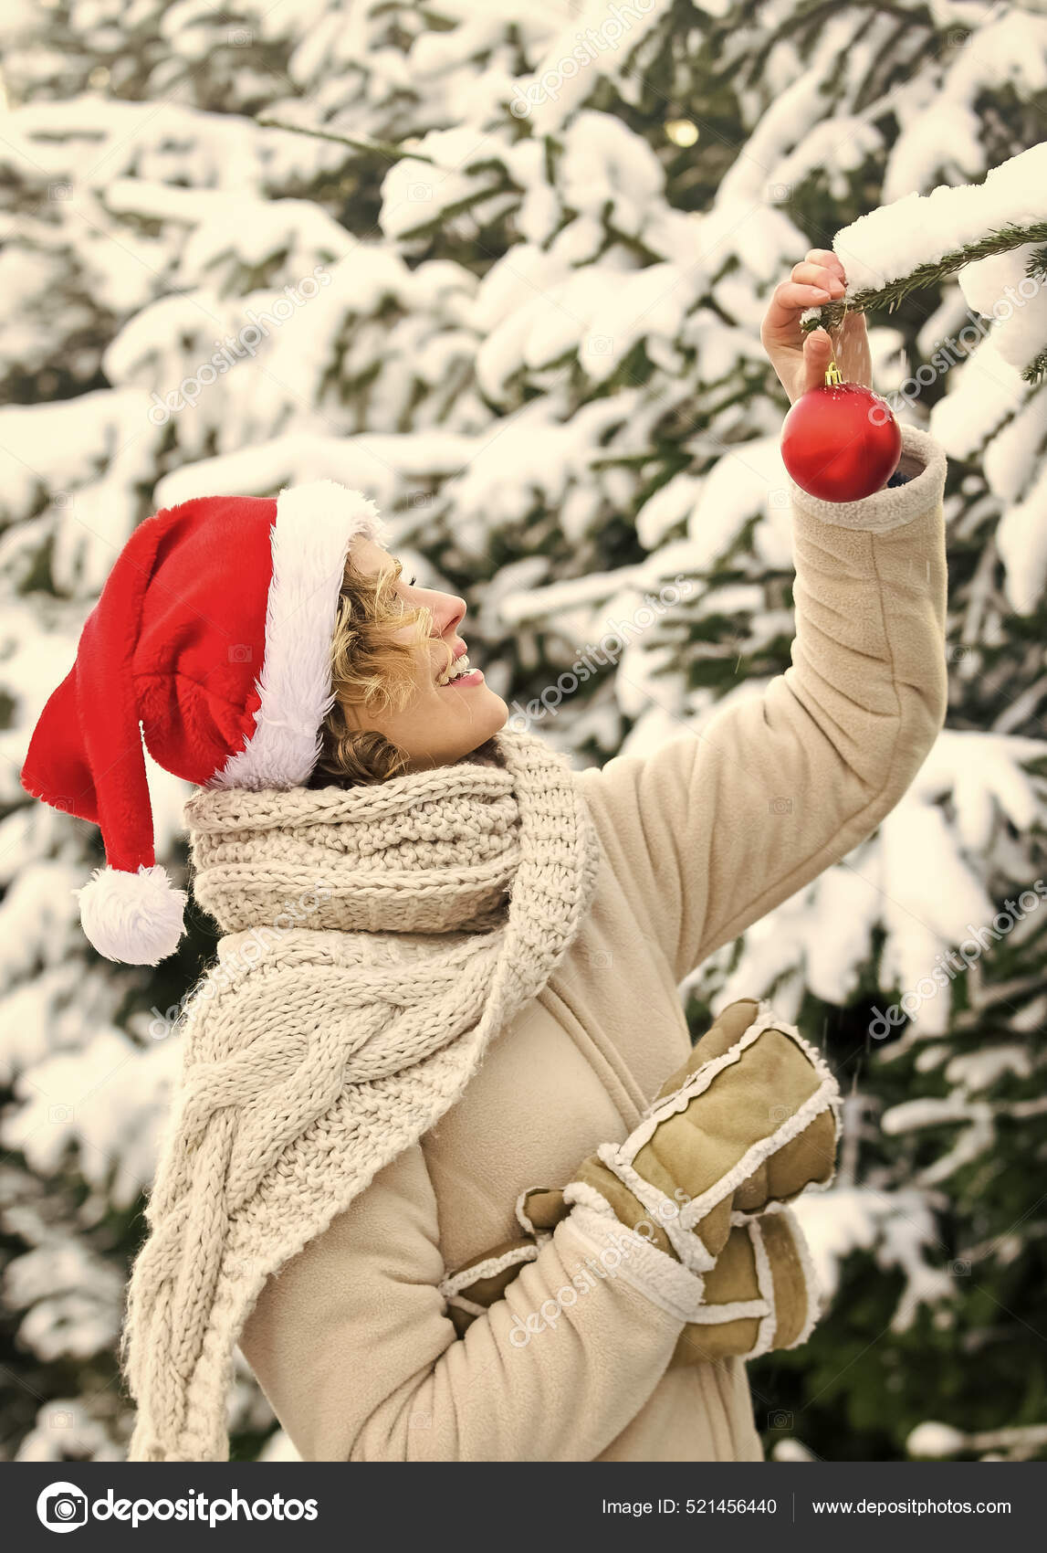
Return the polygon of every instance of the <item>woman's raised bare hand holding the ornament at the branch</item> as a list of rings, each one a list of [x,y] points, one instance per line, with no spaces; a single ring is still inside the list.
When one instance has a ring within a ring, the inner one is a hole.
[[[862,314],[845,314],[831,339],[825,329],[811,329],[807,337],[800,329],[800,314],[807,307],[839,301],[845,283],[844,266],[836,255],[830,248],[811,248],[805,259],[793,266],[790,280],[774,287],[763,315],[760,342],[790,404],[796,404],[808,388],[825,382],[825,370],[833,357],[845,382],[872,388],[872,356]]]

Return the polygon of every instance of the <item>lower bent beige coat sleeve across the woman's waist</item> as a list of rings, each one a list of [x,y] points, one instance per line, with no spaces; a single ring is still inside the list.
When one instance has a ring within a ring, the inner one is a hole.
[[[616,1264],[596,1235],[565,1219],[458,1337],[416,1145],[270,1277],[240,1348],[307,1461],[588,1461],[647,1402],[682,1331],[672,1300],[641,1292],[644,1259],[684,1298],[698,1283],[655,1247]]]

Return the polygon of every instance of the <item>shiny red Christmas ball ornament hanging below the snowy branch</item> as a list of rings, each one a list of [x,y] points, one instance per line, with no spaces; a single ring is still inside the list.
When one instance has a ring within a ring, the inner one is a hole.
[[[782,426],[782,461],[800,491],[859,502],[881,491],[901,458],[890,405],[864,384],[822,384],[796,401]]]

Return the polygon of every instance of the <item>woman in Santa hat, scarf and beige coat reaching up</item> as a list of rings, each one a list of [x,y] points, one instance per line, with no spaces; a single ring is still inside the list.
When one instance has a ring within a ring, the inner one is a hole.
[[[813,250],[762,339],[791,399],[844,294]],[[839,365],[869,380],[864,321]],[[461,599],[329,483],[129,540],[23,781],[102,828],[81,891],[157,963],[138,725],[199,784],[225,932],[130,1286],[136,1460],[226,1452],[236,1342],[313,1460],[751,1460],[745,1356],[816,1315],[786,1204],[831,1177],[831,1075],[766,1006],[690,1047],[676,986],[898,801],[945,714],[945,458],[793,491],[796,643],[766,693],[572,775],[501,731]],[[332,649],[333,632],[333,649]],[[583,1270],[586,1269],[586,1270]]]

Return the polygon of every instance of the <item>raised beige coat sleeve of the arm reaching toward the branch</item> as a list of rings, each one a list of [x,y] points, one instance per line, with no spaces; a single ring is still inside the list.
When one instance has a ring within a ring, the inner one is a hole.
[[[903,430],[907,483],[793,486],[791,668],[653,755],[580,773],[645,933],[682,980],[862,842],[945,721],[946,463]]]

